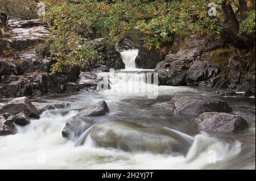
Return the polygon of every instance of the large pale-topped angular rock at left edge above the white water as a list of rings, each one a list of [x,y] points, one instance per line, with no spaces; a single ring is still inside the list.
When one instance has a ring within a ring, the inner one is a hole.
[[[6,106],[2,107],[0,113],[10,113],[16,115],[19,112],[23,112],[28,118],[38,119],[40,112],[33,106],[33,104],[26,97],[15,98],[11,100]]]

